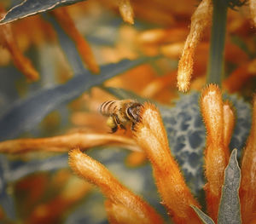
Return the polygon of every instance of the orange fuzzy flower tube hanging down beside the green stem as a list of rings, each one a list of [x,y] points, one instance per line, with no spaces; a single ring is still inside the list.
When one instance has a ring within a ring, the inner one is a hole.
[[[183,54],[178,62],[177,88],[180,91],[189,90],[189,82],[193,72],[195,48],[199,43],[205,28],[212,19],[212,1],[201,1],[191,18],[189,36],[186,39]]]

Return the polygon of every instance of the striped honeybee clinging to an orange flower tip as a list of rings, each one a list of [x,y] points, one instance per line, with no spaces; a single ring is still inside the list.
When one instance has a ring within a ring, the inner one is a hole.
[[[142,104],[134,100],[106,101],[99,108],[103,116],[107,116],[107,125],[112,133],[117,129],[126,129],[125,126],[131,123],[131,129],[134,129],[135,123],[139,121],[139,111]]]

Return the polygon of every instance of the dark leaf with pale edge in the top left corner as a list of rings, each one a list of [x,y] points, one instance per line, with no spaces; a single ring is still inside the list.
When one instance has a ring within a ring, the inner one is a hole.
[[[57,7],[79,3],[82,1],[84,0],[25,0],[12,9],[9,9],[3,19],[0,20],[0,23],[9,23],[33,14],[44,13]]]

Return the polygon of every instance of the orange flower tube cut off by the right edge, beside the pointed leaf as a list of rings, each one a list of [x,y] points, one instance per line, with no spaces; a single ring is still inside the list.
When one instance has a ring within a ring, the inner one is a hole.
[[[255,219],[256,208],[256,95],[253,96],[253,123],[251,134],[241,160],[241,219],[242,223]]]

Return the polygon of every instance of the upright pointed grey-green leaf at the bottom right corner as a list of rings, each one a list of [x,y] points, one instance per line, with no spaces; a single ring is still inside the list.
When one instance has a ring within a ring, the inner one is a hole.
[[[236,160],[237,150],[230,155],[230,163],[225,169],[224,186],[218,208],[218,224],[241,223],[240,201],[238,189],[240,187],[241,171]]]

